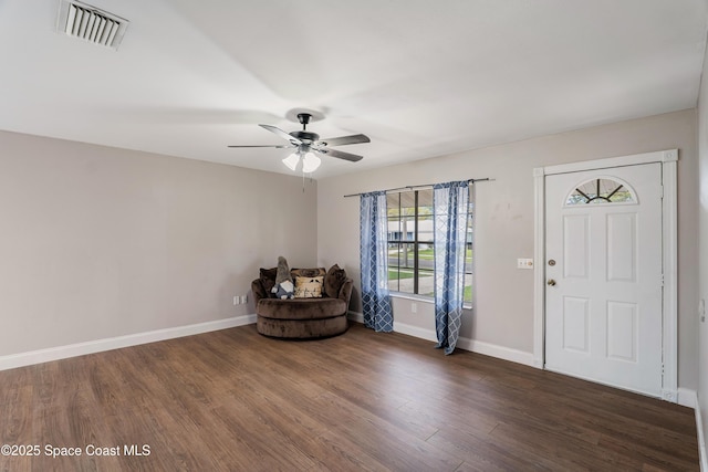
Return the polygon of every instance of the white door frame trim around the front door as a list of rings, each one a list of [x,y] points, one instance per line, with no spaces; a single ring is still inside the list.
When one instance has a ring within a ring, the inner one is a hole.
[[[663,306],[663,359],[664,378],[662,380],[662,398],[666,401],[678,401],[678,188],[677,188],[678,149],[656,153],[635,154],[631,156],[611,157],[607,159],[584,160],[556,166],[537,167],[533,169],[534,180],[534,271],[533,276],[533,365],[545,366],[545,176],[554,174],[596,170],[611,167],[635,166],[639,164],[662,164],[662,183],[664,199],[662,202],[662,249],[664,266],[664,306]]]

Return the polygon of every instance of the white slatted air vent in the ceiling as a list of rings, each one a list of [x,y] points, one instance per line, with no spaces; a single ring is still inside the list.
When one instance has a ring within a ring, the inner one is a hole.
[[[118,49],[128,21],[75,0],[60,0],[56,30],[70,36]]]

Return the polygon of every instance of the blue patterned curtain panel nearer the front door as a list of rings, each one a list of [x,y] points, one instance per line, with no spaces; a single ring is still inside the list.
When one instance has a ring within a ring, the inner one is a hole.
[[[462,322],[469,182],[433,187],[436,347],[452,354]]]

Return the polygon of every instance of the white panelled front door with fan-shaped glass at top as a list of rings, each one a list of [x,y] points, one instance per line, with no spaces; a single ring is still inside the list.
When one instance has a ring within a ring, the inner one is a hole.
[[[545,177],[545,368],[662,397],[662,165]]]

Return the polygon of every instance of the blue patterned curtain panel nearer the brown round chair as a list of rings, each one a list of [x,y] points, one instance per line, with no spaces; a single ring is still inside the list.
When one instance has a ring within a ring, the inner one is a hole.
[[[377,332],[393,332],[394,316],[388,295],[386,192],[362,195],[360,211],[364,325]]]

